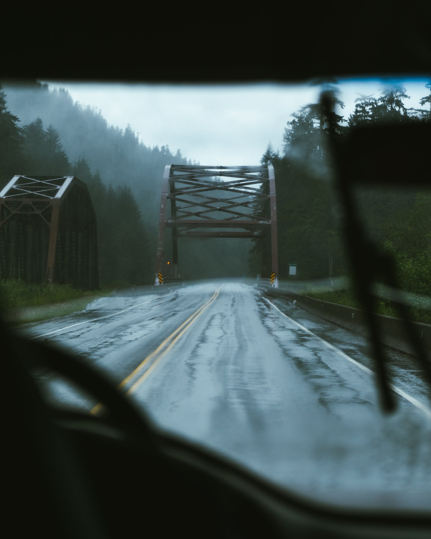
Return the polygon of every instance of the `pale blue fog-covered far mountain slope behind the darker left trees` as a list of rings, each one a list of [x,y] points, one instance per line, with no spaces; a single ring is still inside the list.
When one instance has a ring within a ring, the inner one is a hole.
[[[145,222],[158,224],[161,181],[166,164],[192,164],[180,150],[172,154],[169,146],[147,147],[128,125],[120,129],[108,125],[101,111],[73,101],[67,90],[50,90],[47,84],[4,84],[7,105],[18,116],[21,127],[38,118],[52,126],[71,163],[85,159],[105,184],[127,184],[137,201]]]

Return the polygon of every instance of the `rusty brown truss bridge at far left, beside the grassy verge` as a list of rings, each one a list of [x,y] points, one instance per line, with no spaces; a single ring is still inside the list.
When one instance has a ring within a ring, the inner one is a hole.
[[[0,279],[99,287],[96,216],[73,176],[14,176],[0,192]]]

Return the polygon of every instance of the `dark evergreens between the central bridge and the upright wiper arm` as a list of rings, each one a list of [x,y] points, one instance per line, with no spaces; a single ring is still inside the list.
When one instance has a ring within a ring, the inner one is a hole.
[[[324,88],[340,108],[333,86]],[[290,262],[296,262],[301,279],[322,279],[346,271],[340,241],[336,200],[330,182],[329,127],[343,137],[347,127],[337,110],[326,112],[321,103],[311,103],[292,114],[284,130],[282,159],[274,160],[279,224],[280,278],[288,278]],[[270,149],[262,162],[270,158]],[[255,246],[258,250],[259,246]],[[330,281],[329,281],[330,282]]]

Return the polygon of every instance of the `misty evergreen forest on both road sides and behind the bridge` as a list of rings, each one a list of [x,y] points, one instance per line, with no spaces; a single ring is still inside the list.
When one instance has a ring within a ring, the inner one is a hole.
[[[358,125],[429,122],[430,84],[424,83],[422,89],[417,105],[401,85],[358,96],[354,110],[345,110],[339,100],[336,136],[342,140]],[[337,87],[332,90],[337,92]],[[64,89],[51,91],[40,83],[4,85],[2,96],[2,184],[14,174],[74,174],[82,179],[98,217],[101,280],[154,281],[164,167],[193,164],[199,156],[185,157],[180,149],[171,151],[168,146],[145,146],[133,127],[122,130],[108,125],[100,110],[74,102]],[[269,144],[256,156],[256,164],[260,160],[275,168],[279,277],[289,279],[290,262],[297,263],[301,279],[331,282],[349,275],[338,201],[329,181],[328,129],[322,107],[304,103],[290,117],[281,118],[280,125],[282,152]],[[358,203],[374,239],[398,260],[402,286],[431,295],[430,194],[411,191],[397,196],[370,190],[358,194]],[[260,254],[259,240],[183,240],[179,271],[184,279],[255,276],[260,272]]]

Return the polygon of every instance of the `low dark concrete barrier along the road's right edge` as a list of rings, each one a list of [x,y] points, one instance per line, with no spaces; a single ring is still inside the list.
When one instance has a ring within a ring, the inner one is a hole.
[[[296,305],[311,314],[333,322],[338,326],[351,329],[363,335],[368,334],[364,312],[353,307],[330,303],[329,301],[317,300],[282,288],[267,288],[265,293],[276,298],[283,298],[290,302],[296,301]],[[415,349],[406,335],[404,322],[399,318],[374,314],[379,329],[380,342],[387,347],[393,348],[409,355],[415,355]],[[416,338],[425,348],[431,361],[431,325],[413,322]]]

